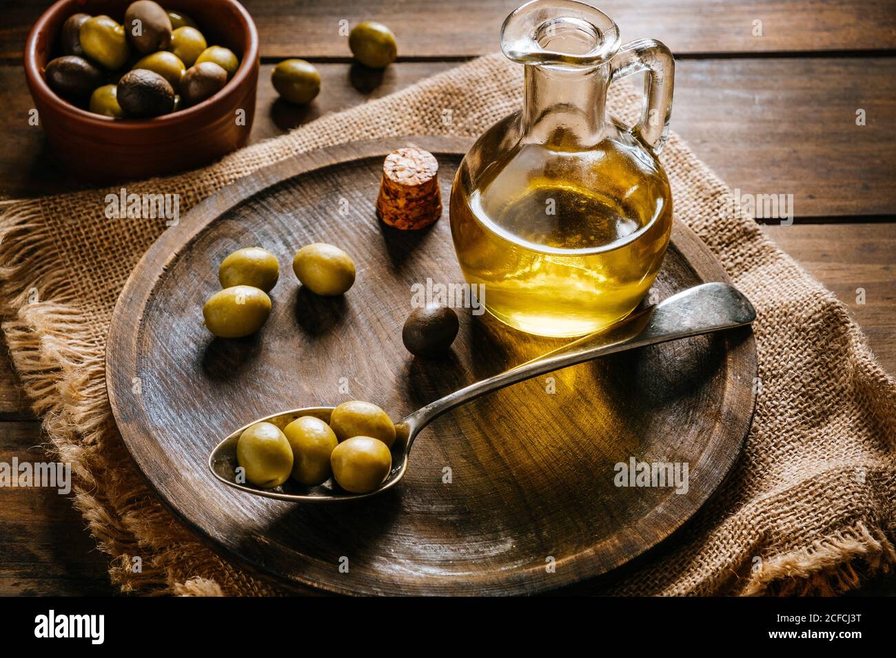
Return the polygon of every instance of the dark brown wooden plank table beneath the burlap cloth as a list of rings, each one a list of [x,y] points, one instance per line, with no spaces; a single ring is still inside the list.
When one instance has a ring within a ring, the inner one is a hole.
[[[47,6],[21,0],[0,27],[0,199],[82,187],[59,171],[22,71],[30,26]],[[252,140],[379,98],[495,51],[517,0],[244,0],[262,42]],[[733,188],[792,194],[794,222],[763,220],[782,249],[849,306],[896,372],[896,0],[601,0],[624,40],[659,38],[676,54],[673,128]],[[371,76],[351,65],[340,21],[382,21],[399,61]],[[288,56],[314,62],[321,95],[289,107],[271,89]],[[865,124],[857,124],[864,115]],[[858,303],[858,288],[865,302]],[[0,360],[0,461],[42,459],[39,423]],[[0,594],[108,594],[107,559],[69,500],[3,491]],[[896,593],[878,577],[861,594]]]

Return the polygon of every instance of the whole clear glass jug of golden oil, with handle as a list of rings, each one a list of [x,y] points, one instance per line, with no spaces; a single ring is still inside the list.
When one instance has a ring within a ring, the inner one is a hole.
[[[657,155],[674,60],[652,39],[620,47],[616,23],[573,0],[523,4],[501,47],[523,64],[523,107],[458,169],[454,247],[499,320],[541,336],[587,334],[633,311],[666,252],[672,198]],[[628,127],[607,117],[607,87],[641,72],[642,116]]]

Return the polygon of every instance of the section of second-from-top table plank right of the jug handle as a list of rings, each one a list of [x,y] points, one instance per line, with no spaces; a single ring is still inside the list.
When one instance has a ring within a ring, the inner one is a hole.
[[[802,218],[893,212],[896,60],[683,61],[675,93],[672,127],[732,188]]]

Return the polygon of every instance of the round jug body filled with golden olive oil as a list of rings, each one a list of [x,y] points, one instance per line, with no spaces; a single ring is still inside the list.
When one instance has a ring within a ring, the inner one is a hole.
[[[668,180],[624,141],[564,153],[520,143],[472,189],[459,170],[454,246],[496,318],[571,337],[624,318],[656,277],[672,223]]]

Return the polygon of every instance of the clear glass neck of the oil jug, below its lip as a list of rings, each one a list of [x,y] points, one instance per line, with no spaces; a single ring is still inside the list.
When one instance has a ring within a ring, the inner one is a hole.
[[[522,141],[551,150],[586,150],[606,131],[609,65],[590,69],[525,66]]]

